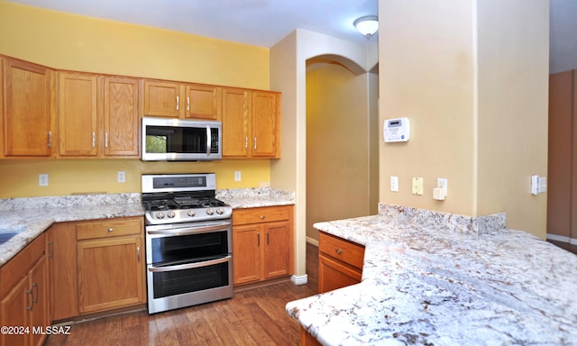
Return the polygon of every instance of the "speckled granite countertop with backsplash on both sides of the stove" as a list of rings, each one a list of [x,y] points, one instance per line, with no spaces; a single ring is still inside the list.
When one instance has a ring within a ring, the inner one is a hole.
[[[294,193],[269,187],[216,190],[216,197],[234,209],[295,203]],[[0,267],[52,223],[143,214],[140,193],[0,199],[0,232],[19,232],[0,245]]]

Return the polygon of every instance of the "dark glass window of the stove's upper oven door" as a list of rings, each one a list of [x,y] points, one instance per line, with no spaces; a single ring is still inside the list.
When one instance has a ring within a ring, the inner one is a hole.
[[[151,239],[152,264],[176,265],[191,259],[208,259],[228,254],[228,232],[207,232]]]

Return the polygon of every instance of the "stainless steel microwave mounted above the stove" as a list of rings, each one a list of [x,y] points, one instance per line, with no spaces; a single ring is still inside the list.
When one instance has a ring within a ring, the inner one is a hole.
[[[142,117],[142,160],[222,159],[222,137],[221,122]]]

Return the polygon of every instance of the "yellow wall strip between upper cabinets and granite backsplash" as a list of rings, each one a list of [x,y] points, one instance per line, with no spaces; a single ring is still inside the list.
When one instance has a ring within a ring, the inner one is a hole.
[[[234,181],[234,171],[242,180]],[[125,183],[116,173],[124,171]],[[140,159],[0,159],[0,198],[65,196],[141,191],[141,174],[216,173],[216,188],[259,187],[268,183],[269,160],[224,159],[209,162],[143,162]],[[49,175],[49,186],[38,186],[38,175]]]

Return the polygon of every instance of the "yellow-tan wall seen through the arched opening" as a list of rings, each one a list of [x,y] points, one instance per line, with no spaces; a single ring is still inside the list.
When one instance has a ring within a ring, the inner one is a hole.
[[[318,240],[313,223],[377,214],[369,141],[377,120],[361,102],[369,78],[337,64],[307,68],[307,238]]]

